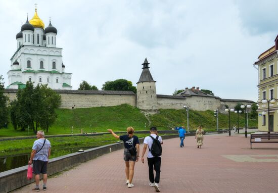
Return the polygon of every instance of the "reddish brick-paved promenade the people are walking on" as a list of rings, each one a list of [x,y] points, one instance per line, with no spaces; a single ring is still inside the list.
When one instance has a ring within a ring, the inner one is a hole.
[[[205,135],[202,149],[190,136],[184,148],[179,138],[164,140],[161,192],[278,192],[278,144],[254,143],[251,150],[250,138],[227,135]],[[132,188],[124,166],[123,150],[112,152],[49,178],[45,192],[155,192],[147,163],[135,164]],[[31,192],[33,185],[15,192]]]

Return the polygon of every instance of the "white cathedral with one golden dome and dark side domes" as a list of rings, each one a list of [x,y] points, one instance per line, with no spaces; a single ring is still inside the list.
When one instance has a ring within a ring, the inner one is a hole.
[[[52,89],[71,89],[71,73],[65,72],[62,48],[56,47],[57,29],[44,29],[43,21],[37,15],[21,26],[17,33],[17,51],[11,58],[7,88],[24,88],[27,81],[34,85],[48,84]]]

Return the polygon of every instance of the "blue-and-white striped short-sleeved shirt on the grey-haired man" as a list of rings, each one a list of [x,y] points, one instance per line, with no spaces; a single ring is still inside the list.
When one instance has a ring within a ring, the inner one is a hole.
[[[44,138],[35,140],[32,150],[36,150],[36,152],[38,152],[41,149],[43,142],[44,142]],[[33,160],[48,162],[48,152],[50,148],[51,148],[50,141],[48,139],[45,139],[44,146],[38,153],[35,154]]]

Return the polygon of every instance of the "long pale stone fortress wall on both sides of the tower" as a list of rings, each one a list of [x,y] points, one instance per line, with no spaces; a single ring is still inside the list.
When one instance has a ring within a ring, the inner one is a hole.
[[[60,108],[90,108],[109,107],[128,104],[136,107],[136,94],[132,91],[105,91],[105,90],[55,90],[61,95],[62,104]],[[9,100],[16,99],[17,89],[5,89]],[[235,107],[238,103],[245,105],[254,102],[247,100],[225,100],[217,97],[205,96],[172,96],[157,94],[158,109],[183,109],[183,106],[190,106],[190,109],[197,111],[219,109],[224,113],[225,105],[229,108]]]

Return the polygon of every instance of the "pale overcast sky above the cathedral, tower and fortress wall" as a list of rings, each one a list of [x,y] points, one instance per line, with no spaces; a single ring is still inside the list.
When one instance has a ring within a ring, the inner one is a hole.
[[[200,87],[222,99],[257,101],[258,56],[278,34],[278,1],[0,0],[0,74],[8,86],[21,23],[34,15],[58,30],[72,89],[86,80],[136,82],[148,59],[157,94]]]

